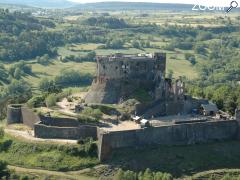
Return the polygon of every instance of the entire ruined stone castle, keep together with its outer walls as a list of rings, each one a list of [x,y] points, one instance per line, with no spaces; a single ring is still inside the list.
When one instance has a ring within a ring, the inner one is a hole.
[[[77,140],[91,137],[98,141],[101,161],[108,159],[113,150],[125,147],[188,145],[240,139],[240,111],[236,111],[235,118],[224,119],[220,116],[218,119],[201,119],[194,115],[193,110],[206,104],[206,100],[184,95],[181,80],[173,82],[165,77],[165,72],[166,54],[163,53],[98,57],[96,78],[85,97],[86,103],[120,103],[131,97],[137,89],[144,88],[153,101],[143,104],[143,109],[136,107],[136,114],[152,119],[149,127],[109,131],[104,129],[105,122],[82,123],[72,116],[51,117],[38,114],[24,105],[9,105],[7,122],[31,127],[37,138]],[[137,113],[138,109],[142,109],[141,113]],[[176,114],[177,117],[167,122],[154,124],[160,121],[154,117]],[[189,114],[190,118],[183,116],[184,119],[179,120],[180,114]]]

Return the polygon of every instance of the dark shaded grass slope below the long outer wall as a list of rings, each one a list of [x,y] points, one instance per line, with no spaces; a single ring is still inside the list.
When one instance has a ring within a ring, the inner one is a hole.
[[[128,148],[113,152],[109,163],[125,169],[142,171],[150,168],[175,177],[198,172],[240,167],[240,142],[219,142],[191,146],[156,146]]]

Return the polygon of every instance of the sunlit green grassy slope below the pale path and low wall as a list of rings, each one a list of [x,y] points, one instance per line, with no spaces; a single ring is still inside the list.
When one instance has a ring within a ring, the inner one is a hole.
[[[29,143],[8,136],[0,141],[0,149],[0,160],[26,168],[70,171],[99,163],[96,150],[89,150],[89,145]]]

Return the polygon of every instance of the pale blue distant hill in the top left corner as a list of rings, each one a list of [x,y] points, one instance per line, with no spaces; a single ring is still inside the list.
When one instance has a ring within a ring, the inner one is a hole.
[[[40,8],[69,8],[76,5],[68,0],[0,0],[0,3]]]

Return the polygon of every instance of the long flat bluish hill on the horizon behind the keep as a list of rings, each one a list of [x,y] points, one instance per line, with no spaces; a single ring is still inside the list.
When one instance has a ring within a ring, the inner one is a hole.
[[[190,4],[145,3],[145,2],[101,2],[77,4],[74,9],[97,10],[192,10]]]

